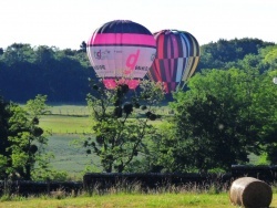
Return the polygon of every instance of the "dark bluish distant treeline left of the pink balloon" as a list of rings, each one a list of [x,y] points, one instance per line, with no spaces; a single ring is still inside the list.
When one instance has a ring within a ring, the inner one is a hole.
[[[85,52],[41,45],[11,44],[0,53],[0,94],[27,102],[45,94],[50,102],[85,101],[89,77],[94,76]]]

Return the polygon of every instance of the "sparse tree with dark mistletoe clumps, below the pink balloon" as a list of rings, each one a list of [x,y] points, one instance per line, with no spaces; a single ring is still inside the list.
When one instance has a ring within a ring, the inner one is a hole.
[[[154,106],[163,100],[163,90],[150,81],[143,81],[140,87],[136,93],[126,84],[119,84],[115,90],[94,84],[95,93],[88,96],[95,138],[88,138],[84,146],[88,154],[93,152],[100,157],[106,173],[122,173],[138,156],[143,157],[155,135],[148,123],[157,117]]]

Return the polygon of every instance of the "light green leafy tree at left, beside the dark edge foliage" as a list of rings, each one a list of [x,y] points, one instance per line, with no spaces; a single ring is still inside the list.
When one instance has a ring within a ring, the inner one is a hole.
[[[45,113],[47,96],[38,95],[28,101],[25,110],[17,104],[10,105],[12,116],[9,119],[9,137],[11,143],[11,173],[18,173],[24,179],[31,179],[39,156],[38,146],[45,145],[43,129],[39,127],[39,117]]]

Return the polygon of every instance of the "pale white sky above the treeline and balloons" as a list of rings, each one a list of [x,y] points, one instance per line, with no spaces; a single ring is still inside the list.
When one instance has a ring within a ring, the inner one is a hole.
[[[112,20],[151,32],[192,33],[201,45],[257,38],[277,43],[277,0],[0,0],[0,48],[12,43],[79,49]]]

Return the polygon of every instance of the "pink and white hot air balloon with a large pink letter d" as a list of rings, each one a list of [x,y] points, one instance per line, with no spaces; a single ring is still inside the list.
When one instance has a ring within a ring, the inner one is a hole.
[[[86,45],[90,62],[107,89],[123,83],[135,89],[156,53],[153,34],[130,20],[104,23],[93,32]]]

